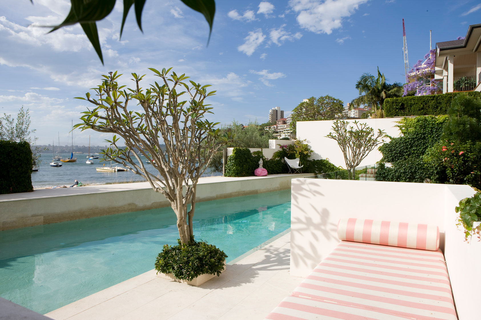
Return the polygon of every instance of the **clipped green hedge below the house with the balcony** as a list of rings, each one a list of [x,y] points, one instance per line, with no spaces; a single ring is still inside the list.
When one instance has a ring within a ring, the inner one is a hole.
[[[447,114],[451,101],[459,94],[481,98],[481,92],[450,92],[440,95],[388,98],[383,108],[386,117]]]

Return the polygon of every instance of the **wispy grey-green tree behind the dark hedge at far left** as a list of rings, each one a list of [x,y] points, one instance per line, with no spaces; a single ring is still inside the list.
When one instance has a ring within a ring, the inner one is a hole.
[[[24,107],[18,111],[17,119],[15,119],[6,113],[3,117],[0,117],[0,140],[14,141],[14,142],[28,142],[32,149],[32,166],[38,164],[40,159],[40,151],[48,150],[48,148],[40,148],[34,146],[35,141],[38,138],[32,139],[31,135],[37,131],[37,129],[30,130],[30,110],[24,110]]]

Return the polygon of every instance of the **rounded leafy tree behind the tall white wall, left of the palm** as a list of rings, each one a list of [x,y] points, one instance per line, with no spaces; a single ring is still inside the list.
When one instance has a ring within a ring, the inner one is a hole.
[[[292,110],[290,128],[295,133],[298,121],[341,119],[342,112],[344,112],[344,104],[340,99],[329,95],[319,98],[311,97],[307,101],[299,103]]]

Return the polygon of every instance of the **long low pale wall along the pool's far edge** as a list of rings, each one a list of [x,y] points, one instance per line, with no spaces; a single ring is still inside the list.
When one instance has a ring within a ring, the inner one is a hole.
[[[204,177],[199,179],[196,199],[200,202],[289,189],[292,178],[309,175]],[[168,206],[170,202],[146,182],[35,190],[0,195],[0,230]]]

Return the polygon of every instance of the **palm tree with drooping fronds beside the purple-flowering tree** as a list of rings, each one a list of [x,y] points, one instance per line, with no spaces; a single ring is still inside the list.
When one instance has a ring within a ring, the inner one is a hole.
[[[378,76],[365,73],[356,82],[356,89],[359,90],[359,97],[351,101],[353,107],[366,105],[374,110],[374,117],[383,118],[384,111],[382,105],[386,98],[401,97],[403,94],[403,86],[399,82],[393,84],[386,83],[386,77],[381,74],[378,67]]]

